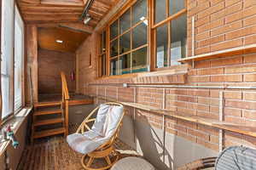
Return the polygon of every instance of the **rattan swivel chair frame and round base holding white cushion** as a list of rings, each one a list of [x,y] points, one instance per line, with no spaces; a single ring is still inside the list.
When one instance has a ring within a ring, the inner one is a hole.
[[[109,102],[109,103],[106,103],[105,105],[116,105],[116,106],[122,107],[122,109],[123,109],[123,105],[120,105],[118,103]],[[96,118],[93,118],[92,116],[94,116],[96,111],[98,111],[99,109],[100,109],[100,106],[96,107],[95,110],[91,111],[90,115],[87,116],[84,119],[84,122],[81,123],[77,132],[74,133],[74,134],[80,134],[81,135],[81,134],[86,133],[86,131],[91,131],[91,128],[88,125],[88,123],[96,122]],[[112,112],[110,111],[109,114],[112,114]],[[122,113],[120,113],[120,114],[121,115],[119,116],[119,120],[118,120],[117,126],[114,130],[114,133],[110,138],[108,138],[108,141],[105,141],[103,144],[101,144],[99,147],[97,147],[95,150],[93,150],[89,153],[86,153],[86,154],[83,153],[84,156],[81,159],[81,164],[84,167],[84,169],[104,170],[104,169],[108,169],[108,168],[112,167],[113,164],[116,161],[118,161],[119,157],[118,157],[118,154],[117,154],[117,152],[115,151],[115,149],[113,147],[113,142],[118,137],[119,129],[121,127],[121,124],[122,124],[121,122],[122,122],[122,119],[123,119],[123,116],[124,116],[124,111],[122,110]],[[71,145],[71,144],[69,143],[69,145]],[[78,151],[78,150],[76,150],[76,151]],[[110,156],[114,156],[113,161],[111,161]],[[105,159],[105,161],[107,162],[107,166],[105,166],[105,167],[104,166],[94,167],[94,168],[91,167],[93,161],[95,161],[96,159]]]

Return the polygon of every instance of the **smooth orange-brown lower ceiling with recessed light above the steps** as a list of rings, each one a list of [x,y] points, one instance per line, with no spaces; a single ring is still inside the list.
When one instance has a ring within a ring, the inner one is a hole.
[[[48,50],[74,53],[89,35],[61,27],[38,28],[38,46]],[[57,40],[62,42],[56,42]]]

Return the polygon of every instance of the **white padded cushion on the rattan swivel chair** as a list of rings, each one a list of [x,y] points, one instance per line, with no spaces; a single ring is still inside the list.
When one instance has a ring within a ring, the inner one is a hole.
[[[113,136],[122,115],[123,107],[121,106],[101,105],[91,130],[83,134],[68,135],[67,143],[73,150],[81,154],[88,154],[96,150]]]

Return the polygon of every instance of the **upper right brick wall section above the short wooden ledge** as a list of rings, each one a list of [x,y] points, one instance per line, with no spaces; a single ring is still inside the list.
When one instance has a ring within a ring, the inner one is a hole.
[[[189,0],[188,37],[191,56],[195,16],[195,54],[206,54],[256,42],[254,0]]]

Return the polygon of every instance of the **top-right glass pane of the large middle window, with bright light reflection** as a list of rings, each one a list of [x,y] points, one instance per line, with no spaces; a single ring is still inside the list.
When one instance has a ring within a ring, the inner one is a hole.
[[[138,0],[132,7],[132,26],[146,18],[148,18],[147,0]],[[148,20],[145,23],[148,23]]]

